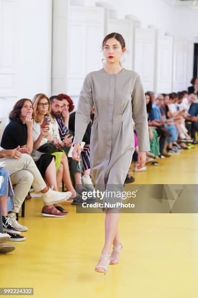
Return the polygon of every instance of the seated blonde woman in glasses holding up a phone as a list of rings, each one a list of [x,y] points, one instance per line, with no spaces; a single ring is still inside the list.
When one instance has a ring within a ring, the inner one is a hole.
[[[57,104],[59,106],[59,103]],[[42,151],[42,146],[49,143],[49,147],[52,148],[52,151],[54,150],[54,146],[50,146],[50,144],[55,145],[55,148],[59,148],[60,145],[62,147],[65,147],[66,144],[71,144],[71,139],[66,139],[66,142],[62,142],[59,135],[58,130],[58,123],[56,122],[55,117],[53,114],[50,114],[51,111],[51,104],[49,101],[49,98],[42,93],[36,94],[33,98],[33,140],[34,150]],[[49,125],[46,126],[46,134],[43,135],[41,132],[41,124],[43,123],[45,116],[50,114],[50,121]],[[80,203],[82,202],[82,196],[79,195],[76,190],[74,189],[70,173],[69,173],[69,165],[68,165],[68,159],[65,154],[65,152],[54,152],[52,155],[56,158],[56,171],[57,171],[57,185],[60,185],[60,182],[63,181],[67,187],[67,189],[72,193],[71,199],[74,200],[73,203]],[[61,172],[59,172],[59,169],[61,168]]]

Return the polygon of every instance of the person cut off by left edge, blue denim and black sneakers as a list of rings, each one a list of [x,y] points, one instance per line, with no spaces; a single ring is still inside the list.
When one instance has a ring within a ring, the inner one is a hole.
[[[9,172],[6,168],[0,168],[0,177],[3,177],[1,180],[0,187],[0,208],[1,208],[1,221],[3,225],[3,232],[10,235],[9,241],[24,241],[25,237],[20,235],[20,232],[15,229],[12,225],[10,217],[8,217],[8,211],[13,210],[13,188],[9,177]]]

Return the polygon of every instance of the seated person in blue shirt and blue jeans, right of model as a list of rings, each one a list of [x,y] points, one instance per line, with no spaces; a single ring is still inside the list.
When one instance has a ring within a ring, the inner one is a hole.
[[[175,127],[173,122],[168,121],[165,116],[162,117],[160,106],[162,105],[162,101],[164,101],[164,96],[160,94],[155,103],[152,105],[152,120],[157,122],[159,125],[164,125],[165,129],[171,134],[171,136],[166,137],[168,142],[167,152],[170,154],[179,153],[179,148],[177,148],[176,141],[178,140],[178,130]],[[175,146],[173,146],[173,143]]]

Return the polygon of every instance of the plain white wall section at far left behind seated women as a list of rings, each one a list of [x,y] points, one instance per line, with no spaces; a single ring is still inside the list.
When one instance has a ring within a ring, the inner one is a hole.
[[[0,118],[17,99],[50,95],[51,5],[51,0],[0,0]]]

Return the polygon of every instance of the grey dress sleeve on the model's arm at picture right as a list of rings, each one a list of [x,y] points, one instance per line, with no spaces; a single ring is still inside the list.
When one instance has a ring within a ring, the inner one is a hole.
[[[148,119],[144,88],[137,75],[132,91],[132,117],[137,131],[139,151],[149,151]]]

